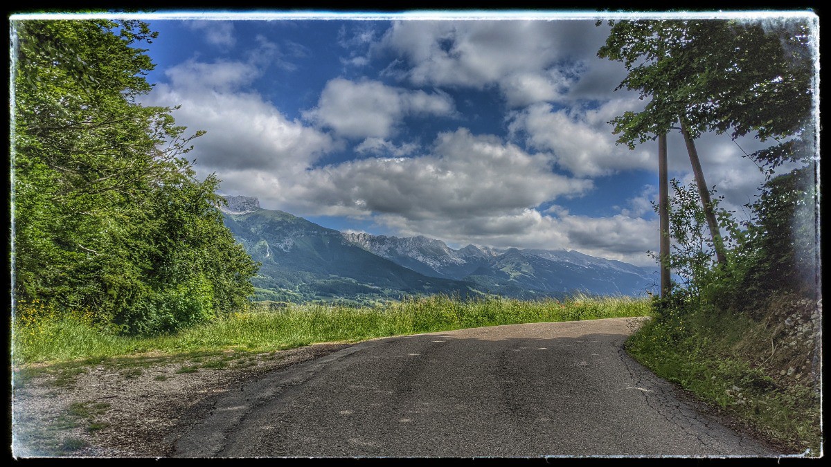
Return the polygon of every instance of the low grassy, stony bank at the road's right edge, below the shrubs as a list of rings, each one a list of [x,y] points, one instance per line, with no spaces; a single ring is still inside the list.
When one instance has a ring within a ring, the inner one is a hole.
[[[803,332],[816,315],[791,308],[771,304],[756,320],[669,310],[633,334],[627,352],[784,449],[816,456],[822,442],[819,386],[811,374],[816,347]]]

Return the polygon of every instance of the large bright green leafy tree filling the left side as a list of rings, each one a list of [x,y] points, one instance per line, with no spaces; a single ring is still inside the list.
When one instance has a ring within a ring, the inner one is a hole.
[[[17,21],[12,264],[17,300],[170,332],[243,307],[255,264],[195,178],[167,107],[145,107],[144,22]]]

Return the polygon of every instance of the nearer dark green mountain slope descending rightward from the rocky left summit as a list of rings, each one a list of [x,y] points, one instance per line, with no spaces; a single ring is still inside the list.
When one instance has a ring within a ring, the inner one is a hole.
[[[399,298],[467,294],[472,283],[430,278],[347,242],[341,232],[283,211],[223,211],[224,223],[255,261],[252,279],[260,300]]]

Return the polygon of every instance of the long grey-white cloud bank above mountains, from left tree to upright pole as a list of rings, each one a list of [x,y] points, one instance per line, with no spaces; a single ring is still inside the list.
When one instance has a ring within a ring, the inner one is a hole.
[[[209,71],[204,64],[198,67]],[[151,96],[156,103],[182,103],[177,120],[209,130],[192,154],[201,170],[219,171],[228,193],[256,195],[265,207],[302,215],[372,219],[403,235],[496,247],[574,248],[649,262],[643,252],[654,249],[655,235],[643,219],[538,212],[540,204],[593,188],[590,179],[554,173],[550,153],[529,153],[495,135],[461,128],[440,134],[425,155],[401,157],[417,149],[375,137],[356,150],[395,157],[312,168],[320,154],[332,150],[327,135],[286,119],[257,94],[228,91],[238,79],[234,73],[179,71],[171,71],[177,79],[157,86]],[[180,82],[184,76],[205,76],[208,82]]]

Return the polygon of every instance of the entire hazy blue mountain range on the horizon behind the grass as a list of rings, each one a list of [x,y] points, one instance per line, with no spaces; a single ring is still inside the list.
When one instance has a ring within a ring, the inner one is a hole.
[[[439,292],[534,298],[578,290],[642,295],[656,283],[652,269],[576,251],[456,250],[434,238],[344,234],[260,209],[256,198],[227,199],[225,224],[262,263],[253,279],[258,299],[365,302]]]

